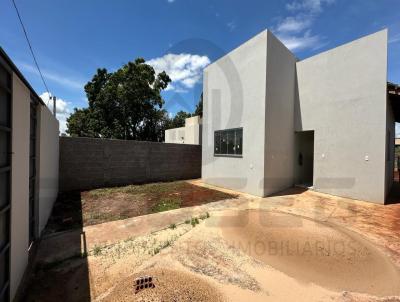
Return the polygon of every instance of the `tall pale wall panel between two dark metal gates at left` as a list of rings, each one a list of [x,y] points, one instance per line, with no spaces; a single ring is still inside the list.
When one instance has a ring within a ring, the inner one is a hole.
[[[13,73],[10,296],[28,264],[30,91]]]

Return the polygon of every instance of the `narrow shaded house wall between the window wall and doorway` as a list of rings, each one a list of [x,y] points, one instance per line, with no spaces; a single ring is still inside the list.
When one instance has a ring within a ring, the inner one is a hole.
[[[265,108],[265,191],[293,186],[296,58],[268,32]]]

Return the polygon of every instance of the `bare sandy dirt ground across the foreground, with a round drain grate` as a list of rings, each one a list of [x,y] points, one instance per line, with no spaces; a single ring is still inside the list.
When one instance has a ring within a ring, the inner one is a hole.
[[[400,301],[399,267],[400,204],[291,189],[47,237],[24,301]]]

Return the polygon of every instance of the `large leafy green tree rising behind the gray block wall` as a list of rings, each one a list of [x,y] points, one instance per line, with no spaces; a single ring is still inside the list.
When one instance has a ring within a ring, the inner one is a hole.
[[[75,109],[67,119],[67,133],[118,139],[160,141],[165,126],[161,91],[171,79],[156,75],[138,58],[115,72],[98,69],[85,85],[89,107]]]

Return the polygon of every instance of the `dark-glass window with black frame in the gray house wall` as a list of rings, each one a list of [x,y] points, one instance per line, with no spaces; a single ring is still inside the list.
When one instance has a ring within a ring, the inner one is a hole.
[[[214,155],[242,156],[243,128],[218,130],[214,132]]]

